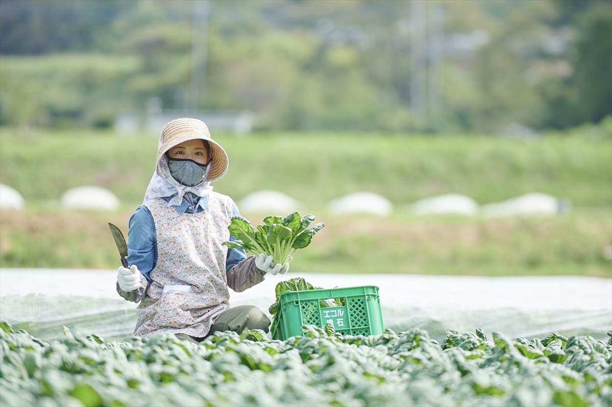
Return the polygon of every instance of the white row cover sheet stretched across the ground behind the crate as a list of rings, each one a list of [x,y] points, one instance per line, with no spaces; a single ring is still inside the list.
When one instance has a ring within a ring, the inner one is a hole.
[[[476,277],[415,274],[291,273],[267,276],[232,306],[252,304],[268,313],[280,281],[304,277],[323,288],[376,285],[384,326],[395,332],[418,326],[441,341],[446,331],[482,329],[506,336],[590,335],[607,342],[612,330],[612,280],[598,277]],[[72,332],[127,339],[136,304],[115,291],[115,270],[0,269],[0,320],[43,340]]]

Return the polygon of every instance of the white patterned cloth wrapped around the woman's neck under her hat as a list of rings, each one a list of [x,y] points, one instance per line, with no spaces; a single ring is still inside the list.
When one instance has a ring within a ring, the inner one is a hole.
[[[162,136],[160,136],[159,146],[162,147]],[[181,205],[183,202],[183,196],[185,193],[191,192],[197,196],[206,196],[212,191],[210,182],[199,183],[194,186],[182,185],[170,175],[170,168],[166,163],[165,155],[162,155],[157,163],[157,169],[147,186],[147,191],[144,193],[144,202],[155,198],[163,198],[166,196],[173,196],[178,194],[168,202],[168,207]]]

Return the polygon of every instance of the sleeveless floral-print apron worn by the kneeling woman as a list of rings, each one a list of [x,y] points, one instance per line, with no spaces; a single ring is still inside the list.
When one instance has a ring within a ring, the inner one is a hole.
[[[214,192],[208,205],[207,211],[180,213],[161,198],[144,204],[155,222],[157,265],[136,309],[136,336],[170,332],[204,337],[215,318],[230,308],[228,248],[222,243],[230,240],[233,205],[230,197]]]

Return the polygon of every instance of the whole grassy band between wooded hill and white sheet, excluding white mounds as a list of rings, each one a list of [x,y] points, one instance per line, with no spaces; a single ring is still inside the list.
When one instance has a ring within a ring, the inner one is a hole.
[[[612,277],[612,141],[484,136],[253,134],[217,137],[230,169],[215,191],[239,201],[274,189],[302,202],[326,227],[291,270],[335,273],[579,274]],[[0,266],[115,268],[107,222],[127,232],[151,177],[157,139],[112,133],[2,129],[0,182],[25,211],[0,211]],[[117,213],[70,212],[61,194],[99,185],[122,200]],[[356,191],[395,204],[389,218],[340,217],[326,202]],[[409,204],[460,193],[479,204],[538,191],[568,199],[550,218],[417,217]],[[253,224],[264,215],[243,213]],[[286,215],[286,214],[274,214]]]

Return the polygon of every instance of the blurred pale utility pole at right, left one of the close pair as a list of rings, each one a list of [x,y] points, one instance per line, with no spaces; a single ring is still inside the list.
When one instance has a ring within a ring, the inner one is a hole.
[[[427,113],[427,31],[425,1],[410,1],[410,108]]]

